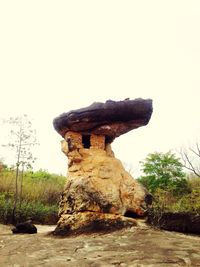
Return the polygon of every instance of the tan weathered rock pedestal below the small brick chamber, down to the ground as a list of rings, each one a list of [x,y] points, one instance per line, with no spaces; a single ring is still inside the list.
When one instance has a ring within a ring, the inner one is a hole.
[[[107,152],[108,151],[108,152]],[[147,192],[125,171],[111,149],[68,152],[70,167],[55,234],[130,227],[144,215]],[[108,154],[107,154],[108,153]],[[78,160],[77,160],[78,159]],[[105,230],[106,231],[106,230]]]

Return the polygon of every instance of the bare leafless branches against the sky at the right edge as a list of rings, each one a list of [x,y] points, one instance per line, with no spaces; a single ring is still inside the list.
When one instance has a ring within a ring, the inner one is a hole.
[[[193,172],[197,177],[200,177],[200,145],[198,142],[193,147],[182,148],[180,155],[183,161],[183,166]]]

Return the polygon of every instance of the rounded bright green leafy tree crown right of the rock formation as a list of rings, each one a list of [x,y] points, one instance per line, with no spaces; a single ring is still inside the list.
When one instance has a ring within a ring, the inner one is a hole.
[[[144,175],[139,181],[151,193],[157,189],[170,190],[174,194],[189,191],[189,185],[180,160],[171,152],[152,153],[142,162]]]

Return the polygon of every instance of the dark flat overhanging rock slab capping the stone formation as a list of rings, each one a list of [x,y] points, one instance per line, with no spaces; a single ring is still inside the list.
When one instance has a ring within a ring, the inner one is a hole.
[[[63,113],[53,120],[62,136],[68,131],[105,135],[113,140],[130,130],[147,125],[152,114],[152,100],[137,98],[123,101],[107,100]]]

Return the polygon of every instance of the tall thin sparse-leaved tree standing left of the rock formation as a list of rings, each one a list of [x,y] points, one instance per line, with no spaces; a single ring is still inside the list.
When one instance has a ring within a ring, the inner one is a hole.
[[[29,121],[27,115],[15,118],[11,117],[6,122],[12,126],[12,129],[10,132],[10,142],[4,146],[10,147],[16,152],[15,194],[12,212],[12,221],[14,223],[18,200],[20,201],[20,205],[22,200],[24,169],[30,168],[35,161],[31,147],[36,145],[37,142],[36,132],[32,129],[32,123]]]

